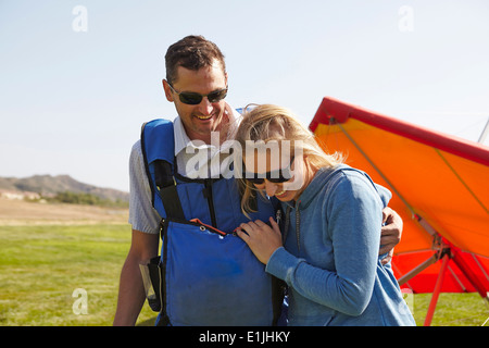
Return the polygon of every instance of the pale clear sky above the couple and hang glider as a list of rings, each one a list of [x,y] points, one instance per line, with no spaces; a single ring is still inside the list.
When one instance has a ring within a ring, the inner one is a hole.
[[[0,0],[0,176],[127,191],[142,123],[176,116],[166,49],[191,34],[225,54],[234,108],[309,125],[329,96],[473,141],[489,120],[487,0]]]

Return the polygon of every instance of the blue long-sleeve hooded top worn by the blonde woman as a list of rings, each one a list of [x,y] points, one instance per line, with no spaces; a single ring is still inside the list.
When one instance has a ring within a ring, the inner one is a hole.
[[[415,325],[378,256],[390,192],[347,165],[321,169],[291,204],[266,272],[289,289],[289,325]]]

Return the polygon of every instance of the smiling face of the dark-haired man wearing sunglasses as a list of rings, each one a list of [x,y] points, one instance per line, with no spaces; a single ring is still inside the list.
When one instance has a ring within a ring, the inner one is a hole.
[[[227,74],[223,72],[217,61],[212,66],[202,67],[198,71],[178,66],[177,78],[172,86],[178,92],[197,92],[204,96],[226,88]],[[218,132],[221,122],[223,120],[224,122],[227,121],[227,117],[223,117],[226,102],[224,100],[210,102],[204,97],[199,104],[185,104],[180,101],[178,94],[172,90],[166,80],[163,80],[163,87],[166,99],[175,103],[188,137],[192,140],[199,139],[210,144],[211,132]]]

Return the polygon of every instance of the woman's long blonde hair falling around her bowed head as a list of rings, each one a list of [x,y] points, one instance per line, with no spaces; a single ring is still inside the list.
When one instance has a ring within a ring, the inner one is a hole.
[[[248,110],[249,108],[246,108]],[[289,109],[262,104],[243,114],[236,137],[242,149],[246,141],[263,140],[268,142],[276,140],[290,140],[291,151],[294,147],[300,147],[304,160],[313,169],[318,170],[324,166],[333,167],[342,163],[340,153],[325,153],[317,144],[314,134],[308,129]],[[249,217],[249,212],[254,212],[251,208],[252,199],[255,199],[258,190],[253,184],[246,178],[238,178],[238,186],[241,194],[241,210]],[[262,190],[258,190],[264,197]]]

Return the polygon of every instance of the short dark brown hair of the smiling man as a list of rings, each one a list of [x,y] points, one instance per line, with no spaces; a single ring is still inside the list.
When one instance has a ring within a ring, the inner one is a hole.
[[[226,73],[224,54],[217,45],[206,40],[203,36],[190,35],[168,47],[165,54],[166,80],[173,84],[177,79],[177,67],[198,71],[204,66],[212,66],[217,60],[223,72]]]

